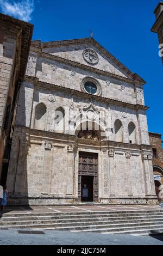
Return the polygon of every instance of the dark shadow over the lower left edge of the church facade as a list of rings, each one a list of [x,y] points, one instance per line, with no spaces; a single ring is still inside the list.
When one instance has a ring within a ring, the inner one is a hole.
[[[30,87],[30,84],[29,84]],[[26,132],[26,92],[22,83],[20,97],[18,99],[17,117],[10,139],[9,162],[3,164],[1,182],[7,184],[8,205],[7,211],[12,211],[10,205],[29,205],[28,202],[28,180],[27,180],[27,157],[29,153],[30,135]],[[21,125],[18,127],[17,125]],[[24,126],[24,128],[22,127]],[[20,203],[20,199],[21,202]],[[31,208],[30,208],[31,209]],[[18,209],[17,209],[18,210]],[[22,210],[22,209],[20,209]],[[31,209],[32,210],[32,209]],[[1,215],[0,215],[1,217]]]

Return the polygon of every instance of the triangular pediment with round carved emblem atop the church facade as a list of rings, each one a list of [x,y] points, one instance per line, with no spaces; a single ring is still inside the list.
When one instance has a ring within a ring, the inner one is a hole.
[[[52,42],[34,41],[32,45],[39,46],[42,52],[87,66],[92,66],[93,68],[121,77],[129,79],[135,78],[135,80],[145,83],[139,75],[131,72],[93,38]]]

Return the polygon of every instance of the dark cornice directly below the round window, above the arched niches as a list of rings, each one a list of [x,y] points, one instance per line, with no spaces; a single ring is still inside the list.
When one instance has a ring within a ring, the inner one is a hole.
[[[26,75],[26,77],[24,78],[24,81],[33,82],[35,84],[35,86],[40,86],[40,87],[45,86],[45,88],[49,87],[49,89],[51,89],[51,90],[54,89],[54,90],[57,90],[59,92],[64,92],[64,93],[71,94],[71,95],[76,95],[76,96],[79,96],[79,97],[85,97],[85,98],[90,99],[90,100],[102,101],[102,102],[106,102],[106,103],[111,103],[113,105],[118,105],[118,106],[121,106],[121,107],[131,108],[131,109],[143,109],[143,110],[148,109],[147,106],[143,106],[143,105],[139,105],[139,104],[131,104],[131,103],[124,102],[124,101],[109,99],[109,98],[102,97],[102,96],[97,96],[97,95],[92,95],[92,94],[88,94],[88,93],[84,93],[84,92],[79,92],[78,90],[74,90],[74,89],[71,89],[71,88],[57,86],[56,84],[39,81],[39,78],[37,78],[37,77],[32,77],[32,76],[27,76]]]

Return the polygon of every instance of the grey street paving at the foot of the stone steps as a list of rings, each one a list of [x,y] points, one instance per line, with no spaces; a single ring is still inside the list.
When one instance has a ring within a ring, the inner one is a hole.
[[[43,231],[43,233],[20,234],[16,229],[0,230],[0,245],[163,245],[163,234],[133,236],[74,234],[70,231]]]

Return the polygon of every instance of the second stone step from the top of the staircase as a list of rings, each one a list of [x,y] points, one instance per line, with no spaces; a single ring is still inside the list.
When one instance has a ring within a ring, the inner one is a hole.
[[[27,224],[53,224],[57,227],[57,225],[86,225],[87,223],[94,223],[94,224],[118,224],[118,223],[132,223],[133,221],[135,222],[160,222],[163,223],[163,217],[162,218],[125,218],[122,220],[122,218],[117,218],[115,220],[112,220],[111,218],[84,218],[84,219],[65,219],[65,220],[15,220],[15,221],[3,221],[0,224],[0,227],[3,225],[8,225],[8,227],[10,227],[10,225],[17,225],[17,224],[21,224],[21,225],[27,225]]]

